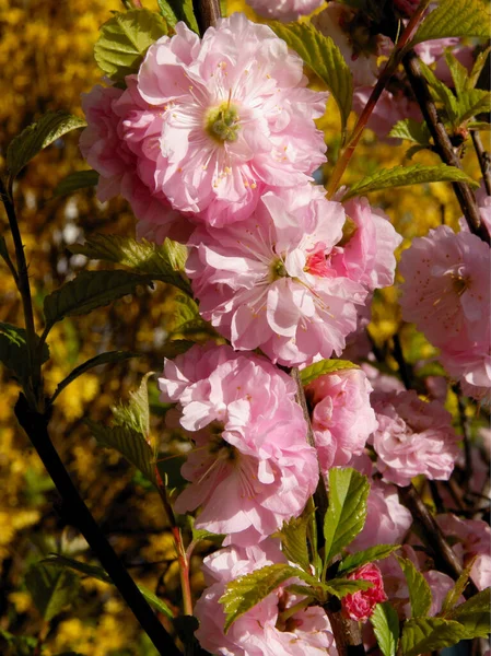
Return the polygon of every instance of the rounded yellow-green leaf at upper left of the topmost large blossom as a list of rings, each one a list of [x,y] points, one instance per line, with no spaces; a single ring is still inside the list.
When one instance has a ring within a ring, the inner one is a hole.
[[[101,27],[94,57],[101,70],[115,82],[137,73],[149,46],[167,34],[167,25],[148,9],[117,13]]]

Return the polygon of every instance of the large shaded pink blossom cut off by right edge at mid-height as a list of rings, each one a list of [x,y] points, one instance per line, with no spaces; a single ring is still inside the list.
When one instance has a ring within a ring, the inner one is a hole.
[[[440,349],[442,364],[464,394],[489,401],[490,247],[469,232],[442,225],[412,241],[399,270],[406,279],[402,317]]]

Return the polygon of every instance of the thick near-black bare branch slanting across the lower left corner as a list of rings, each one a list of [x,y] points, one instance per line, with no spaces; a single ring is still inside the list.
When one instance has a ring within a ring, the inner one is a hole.
[[[171,635],[147,604],[135,581],[124,567],[113,547],[101,531],[87,506],[79,495],[48,434],[48,418],[31,409],[21,394],[15,415],[51,477],[63,503],[70,508],[73,524],[80,529],[102,566],[128,604],[143,631],[162,656],[180,656]]]

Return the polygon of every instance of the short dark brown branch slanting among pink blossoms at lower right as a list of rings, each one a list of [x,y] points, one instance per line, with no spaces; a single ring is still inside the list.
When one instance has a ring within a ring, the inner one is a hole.
[[[437,570],[448,574],[448,576],[456,581],[463,573],[460,562],[452,547],[449,547],[448,542],[445,540],[440,526],[436,524],[433,515],[424,505],[414,485],[411,484],[407,488],[398,488],[398,491],[401,502],[407,508],[409,508],[411,515],[423,530],[424,542],[433,551],[435,566]],[[469,578],[469,583],[464,590],[464,596],[468,598],[477,593],[478,589],[476,585]]]

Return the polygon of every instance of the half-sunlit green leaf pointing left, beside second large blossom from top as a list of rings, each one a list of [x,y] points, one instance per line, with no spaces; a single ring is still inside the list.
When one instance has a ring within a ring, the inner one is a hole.
[[[167,282],[192,295],[191,286],[182,273],[187,248],[172,239],[165,239],[159,246],[145,239],[137,242],[120,235],[92,235],[84,244],[72,244],[70,250],[90,259],[122,265],[133,273],[148,274],[152,280]]]

